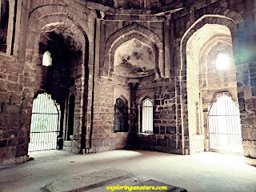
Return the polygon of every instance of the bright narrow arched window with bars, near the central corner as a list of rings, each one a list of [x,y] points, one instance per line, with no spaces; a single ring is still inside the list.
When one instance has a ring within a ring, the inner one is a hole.
[[[142,103],[142,133],[153,133],[153,102],[150,98]]]

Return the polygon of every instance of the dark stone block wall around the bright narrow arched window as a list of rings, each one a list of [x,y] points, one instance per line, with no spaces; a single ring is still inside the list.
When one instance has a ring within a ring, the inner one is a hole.
[[[138,147],[182,154],[182,130],[177,126],[176,109],[179,106],[177,106],[174,78],[143,79],[138,86],[137,103],[140,104],[138,107],[142,106],[145,96],[154,102],[154,134],[140,134],[140,126],[138,126]],[[138,123],[140,122],[141,117],[138,118]]]

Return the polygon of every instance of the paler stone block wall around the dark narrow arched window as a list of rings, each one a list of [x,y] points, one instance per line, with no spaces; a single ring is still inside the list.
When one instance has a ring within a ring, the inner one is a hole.
[[[112,78],[95,78],[94,81],[93,126],[88,139],[91,143],[86,146],[91,153],[123,149],[128,142],[128,132],[114,132],[114,104],[120,93],[126,97],[129,90],[123,86],[118,88],[118,82]]]

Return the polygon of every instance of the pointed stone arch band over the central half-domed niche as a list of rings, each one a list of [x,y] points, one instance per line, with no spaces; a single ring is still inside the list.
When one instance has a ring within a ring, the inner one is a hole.
[[[139,26],[134,23],[131,26],[126,26],[121,30],[118,30],[107,39],[105,45],[105,61],[100,63],[100,71],[103,75],[111,75],[114,72],[114,54],[119,46],[129,42],[132,39],[137,39],[140,42],[145,43],[154,50],[155,66],[154,74],[156,78],[164,77],[164,56],[162,41],[152,31],[146,29],[143,26]]]

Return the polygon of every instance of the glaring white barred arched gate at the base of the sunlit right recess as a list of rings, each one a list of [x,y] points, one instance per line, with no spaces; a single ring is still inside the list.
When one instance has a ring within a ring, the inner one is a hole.
[[[229,93],[215,94],[208,128],[210,150],[242,153],[240,111]]]

